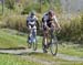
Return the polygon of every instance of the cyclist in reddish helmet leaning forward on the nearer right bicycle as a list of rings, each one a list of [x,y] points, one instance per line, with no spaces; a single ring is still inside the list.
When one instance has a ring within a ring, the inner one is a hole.
[[[46,12],[43,18],[42,18],[42,26],[43,26],[43,52],[48,53],[46,48],[49,46],[48,43],[48,33],[49,30],[54,31],[54,29],[61,29],[60,24],[56,20],[56,17],[54,14],[54,12],[52,10],[50,10],[49,12]],[[53,26],[53,29],[51,29]]]

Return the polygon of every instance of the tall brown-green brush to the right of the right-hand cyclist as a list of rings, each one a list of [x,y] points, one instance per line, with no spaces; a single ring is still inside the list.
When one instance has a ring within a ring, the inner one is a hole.
[[[83,15],[70,22],[62,22],[62,30],[58,35],[60,40],[83,43]]]

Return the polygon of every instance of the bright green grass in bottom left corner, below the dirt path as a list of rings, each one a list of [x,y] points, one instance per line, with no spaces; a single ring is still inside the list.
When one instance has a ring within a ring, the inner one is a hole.
[[[42,65],[17,55],[0,54],[0,65]]]

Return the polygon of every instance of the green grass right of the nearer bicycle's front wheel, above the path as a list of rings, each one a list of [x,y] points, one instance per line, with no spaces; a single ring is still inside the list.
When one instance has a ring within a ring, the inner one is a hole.
[[[59,53],[63,53],[66,55],[72,55],[72,56],[79,56],[83,57],[83,47],[80,45],[75,44],[76,46],[73,46],[73,44],[68,45],[59,45]]]

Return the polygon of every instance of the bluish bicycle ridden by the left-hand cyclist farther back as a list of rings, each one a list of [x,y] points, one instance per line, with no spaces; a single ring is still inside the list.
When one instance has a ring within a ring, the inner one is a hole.
[[[30,36],[28,36],[28,47],[31,48],[33,47],[33,51],[37,51],[38,47],[38,42],[37,42],[37,33],[35,29],[31,28],[30,31]]]

